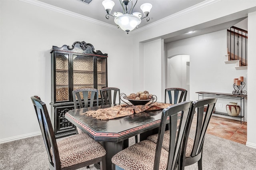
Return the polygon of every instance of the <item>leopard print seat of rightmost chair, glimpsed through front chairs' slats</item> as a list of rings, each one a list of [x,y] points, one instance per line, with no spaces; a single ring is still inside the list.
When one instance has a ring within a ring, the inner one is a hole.
[[[177,136],[176,132],[176,136]],[[157,138],[158,138],[158,134],[153,134],[151,136],[148,136],[147,140],[150,140],[154,143],[157,143]],[[163,140],[163,146],[162,148],[164,148],[165,150],[169,150],[169,141],[170,141],[170,130],[166,130],[164,132],[164,140]],[[192,152],[192,148],[194,145],[194,140],[192,138],[188,138],[188,143],[187,143],[187,148],[186,148],[186,157],[189,157],[191,152]]]

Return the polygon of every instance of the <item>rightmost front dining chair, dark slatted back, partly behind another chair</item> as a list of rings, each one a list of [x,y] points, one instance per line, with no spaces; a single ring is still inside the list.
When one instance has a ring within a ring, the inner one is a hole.
[[[216,102],[216,98],[202,99],[193,102],[191,113],[194,113],[194,111],[197,110],[196,132],[193,137],[189,135],[190,127],[192,125],[191,120],[188,127],[186,127],[186,133],[182,144],[180,170],[184,170],[185,166],[192,165],[196,162],[198,162],[198,169],[202,170],[204,137]],[[204,106],[207,107],[205,113]]]

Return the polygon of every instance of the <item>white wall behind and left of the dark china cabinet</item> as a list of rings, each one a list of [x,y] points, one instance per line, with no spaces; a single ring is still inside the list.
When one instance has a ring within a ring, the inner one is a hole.
[[[40,96],[50,112],[52,45],[92,43],[108,53],[108,86],[132,91],[130,35],[18,0],[0,4],[0,142],[40,131],[30,97]]]

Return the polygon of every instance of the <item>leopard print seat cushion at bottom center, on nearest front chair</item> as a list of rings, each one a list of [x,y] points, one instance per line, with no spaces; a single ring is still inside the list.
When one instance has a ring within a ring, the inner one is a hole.
[[[112,163],[125,170],[152,170],[156,143],[143,140],[118,152],[112,157]],[[168,152],[162,149],[159,170],[166,170]]]

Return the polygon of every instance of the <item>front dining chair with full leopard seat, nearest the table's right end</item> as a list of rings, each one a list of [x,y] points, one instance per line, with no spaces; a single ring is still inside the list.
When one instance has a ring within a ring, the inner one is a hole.
[[[176,169],[180,162],[180,150],[185,134],[185,129],[192,117],[190,112],[191,105],[192,101],[185,101],[163,109],[157,142],[155,143],[150,140],[143,140],[118,152],[112,157],[112,169]],[[181,111],[182,116],[180,117],[180,121],[178,121],[178,113]],[[169,150],[162,148],[166,123],[170,124],[171,131]],[[177,128],[178,124],[179,126]]]

